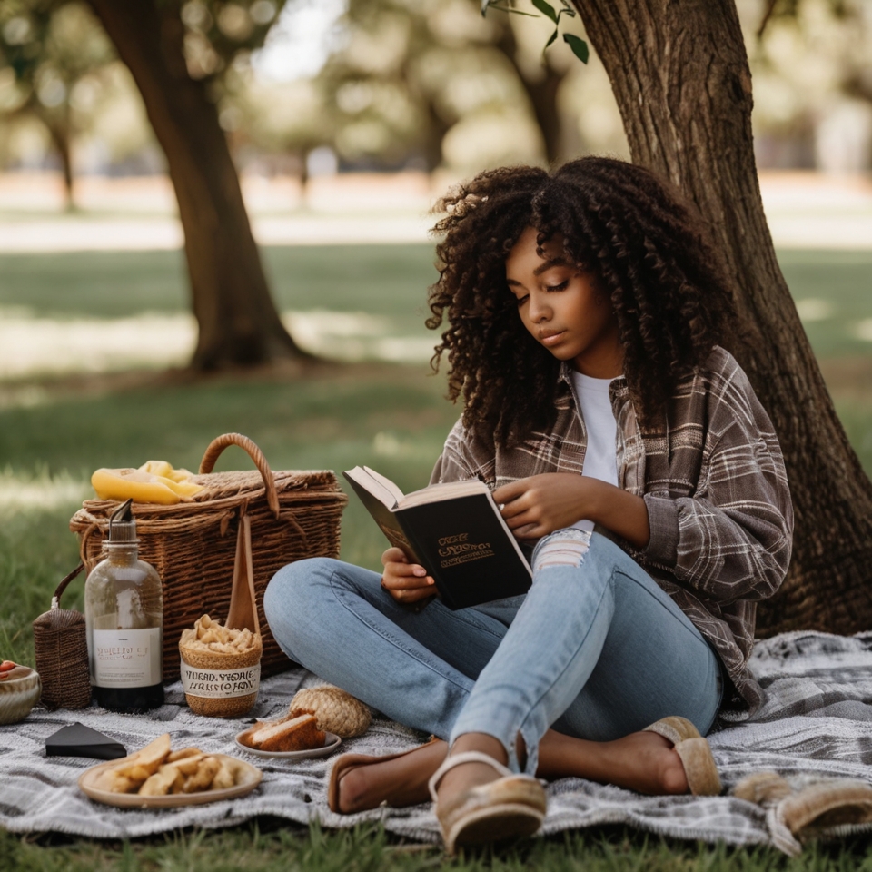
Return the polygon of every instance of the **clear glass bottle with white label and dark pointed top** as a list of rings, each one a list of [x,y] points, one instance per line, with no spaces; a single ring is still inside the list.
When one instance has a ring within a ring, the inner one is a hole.
[[[109,519],[106,557],[84,583],[94,701],[121,712],[163,705],[163,588],[139,560],[132,502]]]

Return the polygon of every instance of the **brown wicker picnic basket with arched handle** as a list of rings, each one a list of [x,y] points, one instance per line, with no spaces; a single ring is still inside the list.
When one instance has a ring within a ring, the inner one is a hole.
[[[228,445],[247,451],[257,471],[213,472]],[[190,501],[174,506],[134,503],[140,558],[151,563],[163,580],[163,680],[179,677],[183,629],[204,614],[228,614],[237,531],[246,516],[263,631],[262,675],[281,672],[291,661],[272,638],[263,616],[263,591],[287,563],[339,556],[340,523],[348,497],[332,471],[273,472],[263,452],[240,433],[213,440],[193,481],[203,490]],[[109,516],[118,505],[116,500],[85,500],[70,520],[89,572],[103,558]]]

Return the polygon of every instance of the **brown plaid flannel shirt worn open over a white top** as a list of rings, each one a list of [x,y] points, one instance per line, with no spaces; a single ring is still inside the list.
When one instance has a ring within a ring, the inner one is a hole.
[[[792,544],[793,507],[772,423],[748,376],[718,347],[679,384],[659,426],[640,429],[623,378],[612,381],[610,398],[619,486],[644,498],[651,538],[636,549],[597,530],[637,560],[708,639],[729,679],[722,715],[744,719],[763,699],[748,670],[757,601],[778,590]],[[555,404],[551,431],[509,450],[458,421],[431,483],[480,476],[495,488],[541,472],[580,473],[587,435],[566,363]]]

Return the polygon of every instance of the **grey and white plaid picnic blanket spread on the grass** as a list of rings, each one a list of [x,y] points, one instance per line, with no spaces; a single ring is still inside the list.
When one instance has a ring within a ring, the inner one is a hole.
[[[772,808],[731,796],[729,791],[741,778],[760,770],[775,770],[793,783],[854,778],[872,784],[872,633],[840,637],[798,632],[765,639],[754,649],[751,668],[767,693],[763,708],[753,720],[719,723],[709,736],[724,781],[723,795],[644,797],[580,778],[563,778],[548,788],[549,810],[542,833],[626,824],[671,837],[769,844],[798,853],[797,840],[785,833]],[[324,827],[381,820],[398,836],[438,842],[439,826],[429,803],[358,815],[333,814],[327,807],[326,788],[335,757],[266,760],[235,745],[235,734],[253,717],[278,717],[297,689],[319,683],[302,669],[265,679],[252,716],[235,721],[194,715],[184,704],[178,683],[168,687],[166,704],[147,716],[118,715],[100,708],[35,709],[24,722],[0,727],[0,827],[16,833],[55,831],[119,838],[177,827],[229,827],[272,815],[300,824],[318,820]],[[247,797],[209,805],[161,810],[103,806],[76,787],[76,779],[95,761],[45,757],[45,738],[74,721],[117,739],[130,751],[168,731],[173,747],[196,745],[248,759],[263,770],[263,782]],[[376,717],[365,735],[344,741],[340,751],[388,753],[411,748],[423,738]]]

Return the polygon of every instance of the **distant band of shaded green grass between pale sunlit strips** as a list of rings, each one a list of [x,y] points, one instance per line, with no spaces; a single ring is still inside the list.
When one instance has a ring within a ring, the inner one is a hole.
[[[263,261],[279,309],[368,312],[396,332],[423,332],[426,289],[437,276],[433,248],[419,245],[276,246]],[[872,352],[855,332],[872,316],[872,252],[782,251],[796,300],[824,300],[831,313],[807,322],[822,357]],[[120,318],[188,311],[181,252],[0,255],[0,309],[45,317]]]

